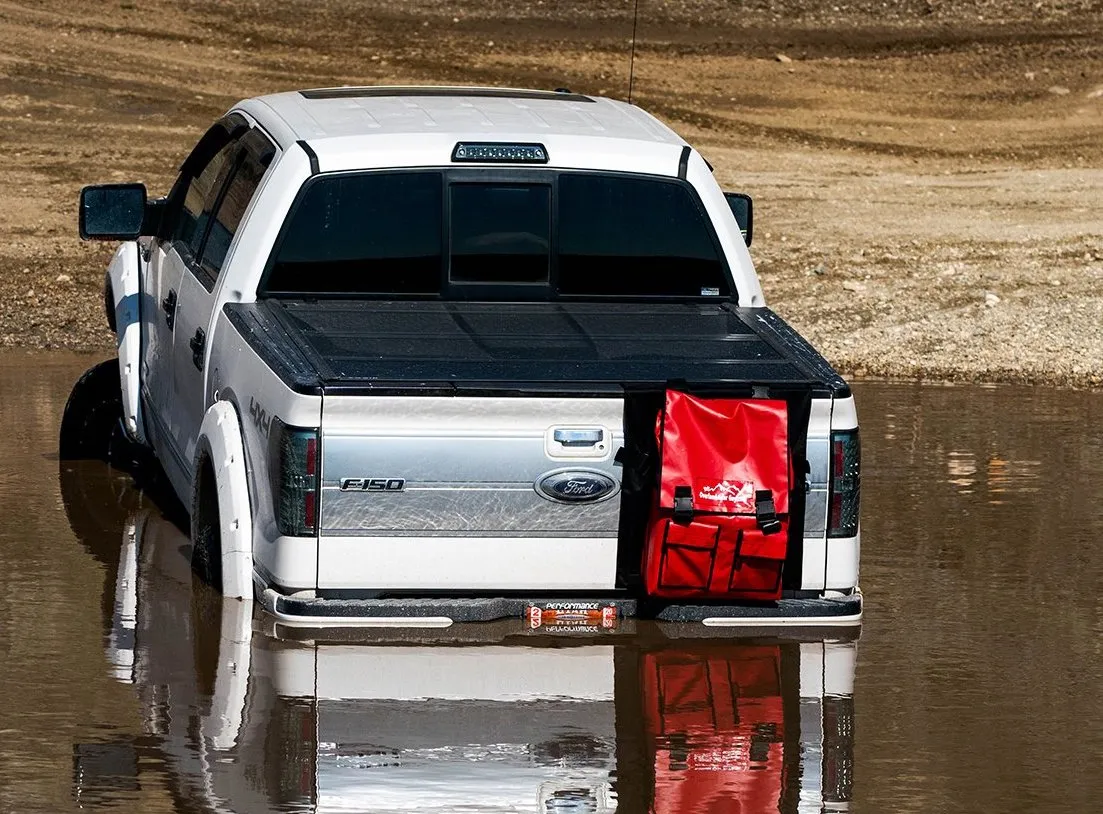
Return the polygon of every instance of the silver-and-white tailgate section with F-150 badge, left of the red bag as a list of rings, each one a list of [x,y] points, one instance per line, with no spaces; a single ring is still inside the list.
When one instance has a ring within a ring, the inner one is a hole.
[[[330,396],[320,589],[614,587],[620,398]]]

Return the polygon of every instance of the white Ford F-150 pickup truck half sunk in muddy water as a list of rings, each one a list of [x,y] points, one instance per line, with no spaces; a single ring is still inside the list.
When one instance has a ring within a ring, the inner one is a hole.
[[[168,196],[79,208],[124,242],[121,425],[224,595],[308,626],[857,623],[854,399],[765,307],[750,217],[638,107],[447,87],[248,99]]]

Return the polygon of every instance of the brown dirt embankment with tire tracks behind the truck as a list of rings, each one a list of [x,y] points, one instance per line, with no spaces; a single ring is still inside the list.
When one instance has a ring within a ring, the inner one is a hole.
[[[623,97],[631,0],[0,0],[0,345],[109,350],[84,183],[238,98]],[[634,99],[754,195],[771,304],[847,373],[1103,384],[1103,2],[640,0]]]

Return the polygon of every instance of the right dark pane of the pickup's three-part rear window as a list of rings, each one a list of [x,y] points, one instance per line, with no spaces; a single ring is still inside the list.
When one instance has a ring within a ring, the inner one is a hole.
[[[678,183],[559,176],[559,293],[727,296],[711,228]]]

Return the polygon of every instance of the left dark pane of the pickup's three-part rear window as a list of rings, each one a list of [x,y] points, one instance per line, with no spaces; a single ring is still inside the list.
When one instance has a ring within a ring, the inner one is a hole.
[[[269,292],[440,291],[438,172],[319,178],[291,215]]]

